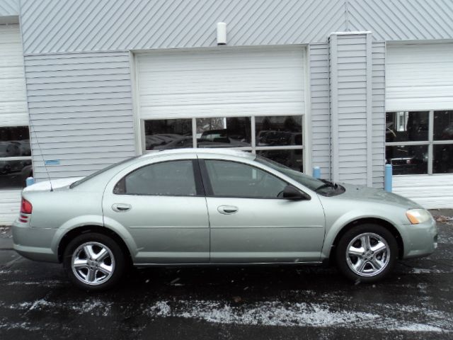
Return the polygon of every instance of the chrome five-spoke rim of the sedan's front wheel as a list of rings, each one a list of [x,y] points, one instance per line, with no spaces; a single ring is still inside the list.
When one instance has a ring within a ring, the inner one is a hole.
[[[346,262],[358,276],[377,276],[384,271],[389,261],[389,244],[383,237],[372,232],[357,235],[346,248]]]

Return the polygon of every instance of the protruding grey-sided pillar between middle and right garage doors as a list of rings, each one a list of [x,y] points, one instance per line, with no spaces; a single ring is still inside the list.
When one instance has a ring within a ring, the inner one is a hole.
[[[333,179],[366,185],[367,35],[332,35],[330,47]]]

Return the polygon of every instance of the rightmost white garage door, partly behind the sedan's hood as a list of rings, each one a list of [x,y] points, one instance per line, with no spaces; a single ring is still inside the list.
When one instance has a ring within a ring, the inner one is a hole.
[[[394,192],[453,208],[453,43],[387,46],[386,128]]]

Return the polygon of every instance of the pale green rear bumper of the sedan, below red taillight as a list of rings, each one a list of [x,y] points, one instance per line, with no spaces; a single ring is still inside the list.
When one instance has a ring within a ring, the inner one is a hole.
[[[52,239],[56,229],[30,227],[18,220],[13,222],[13,249],[21,256],[35,261],[58,263],[58,255],[52,251]]]

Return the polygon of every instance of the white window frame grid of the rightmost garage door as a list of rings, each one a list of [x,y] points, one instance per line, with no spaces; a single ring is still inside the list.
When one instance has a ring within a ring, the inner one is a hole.
[[[434,113],[436,111],[453,111],[453,109],[445,109],[445,110],[392,110],[386,111],[385,113],[391,112],[425,112],[428,111],[428,140],[420,140],[420,141],[409,141],[409,142],[385,142],[384,147],[396,147],[396,146],[428,146],[428,171],[426,174],[401,174],[401,175],[394,175],[394,176],[437,176],[437,175],[451,175],[451,173],[442,174],[432,172],[432,166],[434,164],[434,145],[452,145],[453,140],[434,140]],[[385,138],[385,137],[384,137]],[[385,159],[386,159],[386,154]]]

